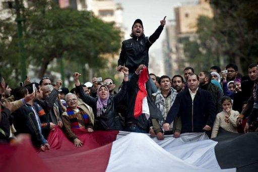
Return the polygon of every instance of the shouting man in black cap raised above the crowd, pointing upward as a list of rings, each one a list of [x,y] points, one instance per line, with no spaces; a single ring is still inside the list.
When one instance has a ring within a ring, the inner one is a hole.
[[[131,39],[124,40],[122,42],[121,52],[118,60],[117,71],[121,71],[125,66],[129,69],[129,78],[131,78],[134,72],[140,65],[149,65],[149,48],[159,38],[164,26],[166,24],[166,16],[160,21],[160,26],[150,36],[145,37],[143,22],[137,19],[132,26]],[[152,80],[149,78],[149,80]],[[157,87],[151,83],[152,93],[157,92]]]

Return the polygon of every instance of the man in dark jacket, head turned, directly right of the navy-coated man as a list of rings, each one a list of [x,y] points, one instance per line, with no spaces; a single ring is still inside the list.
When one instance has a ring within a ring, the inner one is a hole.
[[[202,71],[199,74],[200,87],[204,90],[209,91],[212,94],[213,101],[216,105],[217,113],[222,111],[221,97],[222,91],[218,86],[211,83],[212,75],[207,71]]]

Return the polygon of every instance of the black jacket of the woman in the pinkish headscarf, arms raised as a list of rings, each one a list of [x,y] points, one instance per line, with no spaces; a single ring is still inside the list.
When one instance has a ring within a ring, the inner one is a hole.
[[[117,104],[120,102],[126,94],[127,83],[124,82],[121,90],[113,95],[109,96],[107,101],[106,112],[101,114],[100,117],[97,117],[97,98],[93,98],[85,94],[82,86],[77,86],[77,92],[79,93],[80,98],[91,108],[94,113],[94,129],[95,130],[123,130],[122,119],[116,111]]]

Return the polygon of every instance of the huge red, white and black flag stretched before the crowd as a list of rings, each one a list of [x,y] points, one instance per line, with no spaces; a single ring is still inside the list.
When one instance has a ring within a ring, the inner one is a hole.
[[[84,129],[75,129],[74,132],[83,142],[82,147],[75,147],[59,128],[55,128],[49,134],[51,149],[45,152],[36,152],[29,139],[23,140],[16,146],[0,144],[0,171],[236,171],[236,169],[255,171],[258,169],[256,168],[257,133],[245,134],[218,144],[209,140],[205,133],[185,133],[181,134],[180,138],[165,136],[164,140],[157,140],[142,133],[120,131],[87,133]],[[246,147],[239,149],[239,156],[236,157],[235,154],[238,152],[232,145],[243,146],[241,140],[246,142],[248,138],[252,138],[254,146],[249,147],[249,143],[245,143]],[[250,152],[242,152],[246,149]],[[250,157],[247,158],[246,154]],[[226,158],[223,159],[223,155]],[[235,163],[236,160],[242,161]],[[225,167],[228,169],[221,169]]]

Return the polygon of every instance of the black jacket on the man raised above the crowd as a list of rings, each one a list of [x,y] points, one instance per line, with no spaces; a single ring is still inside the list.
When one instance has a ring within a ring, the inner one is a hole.
[[[134,36],[131,39],[124,40],[122,42],[118,66],[127,67],[130,73],[135,72],[140,65],[148,67],[149,48],[159,38],[162,30],[163,26],[159,26],[149,38],[143,34],[141,37]]]

